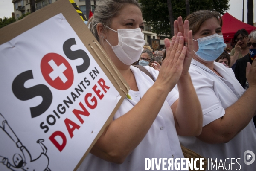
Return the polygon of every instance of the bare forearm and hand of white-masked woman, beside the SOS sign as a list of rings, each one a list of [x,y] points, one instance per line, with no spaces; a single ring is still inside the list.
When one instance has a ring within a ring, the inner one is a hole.
[[[92,154],[121,164],[143,140],[183,70],[186,47],[183,47],[181,34],[172,39],[170,48],[172,47],[181,53],[170,50],[154,85],[128,113],[108,125],[90,151]]]

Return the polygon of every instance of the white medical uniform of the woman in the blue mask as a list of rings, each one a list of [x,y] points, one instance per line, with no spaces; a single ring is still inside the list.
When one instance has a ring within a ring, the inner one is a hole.
[[[232,69],[217,62],[214,62],[214,69],[222,77],[196,60],[192,60],[189,68],[189,74],[203,111],[203,126],[224,116],[225,109],[234,104],[245,91],[236,80]],[[214,161],[217,159],[217,162],[220,162],[221,159],[223,165],[227,158],[240,158],[238,160],[241,165],[240,171],[256,171],[256,161],[251,165],[244,163],[246,150],[256,154],[256,130],[253,120],[228,143],[207,144],[196,137],[179,136],[179,139],[182,145],[204,157],[212,158]],[[227,159],[226,169],[228,169],[228,162],[230,160]],[[239,170],[240,166],[235,159],[232,160],[232,163],[235,163],[232,164],[232,169]],[[219,168],[219,170],[221,169],[222,167]]]

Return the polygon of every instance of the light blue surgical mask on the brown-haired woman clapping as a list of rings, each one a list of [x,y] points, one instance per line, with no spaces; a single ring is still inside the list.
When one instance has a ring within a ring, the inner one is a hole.
[[[194,40],[194,39],[193,39]],[[214,34],[204,38],[194,40],[198,42],[198,51],[195,52],[199,58],[204,61],[215,61],[224,51],[226,44],[224,43],[223,35]]]

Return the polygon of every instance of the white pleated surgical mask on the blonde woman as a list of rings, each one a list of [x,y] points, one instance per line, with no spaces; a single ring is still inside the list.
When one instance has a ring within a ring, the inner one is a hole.
[[[108,29],[108,26],[106,26]],[[111,29],[116,32],[116,30]],[[118,45],[112,46],[108,40],[108,44],[112,47],[112,50],[116,54],[122,63],[126,65],[131,65],[138,61],[141,52],[143,51],[143,46],[145,45],[144,34],[141,32],[140,28],[137,29],[118,29]]]

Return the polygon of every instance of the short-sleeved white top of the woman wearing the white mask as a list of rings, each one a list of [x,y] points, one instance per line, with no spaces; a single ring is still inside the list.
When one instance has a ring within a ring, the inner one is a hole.
[[[151,67],[145,68],[156,80],[159,72]],[[137,104],[138,97],[143,97],[146,91],[154,84],[154,81],[138,68],[131,66],[130,69],[134,73],[139,92],[129,91],[128,94],[131,96],[131,99],[125,98],[113,120],[131,110],[131,108]],[[106,162],[93,154],[88,154],[78,168],[78,171],[144,171],[145,158],[157,158],[157,161],[159,161],[159,158],[164,157],[167,159],[172,157],[174,159],[184,157],[180,148],[175,121],[170,107],[177,99],[178,92],[173,89],[167,96],[163,107],[142,142],[140,142],[121,165]],[[148,113],[148,115],[150,115],[150,113]],[[167,167],[168,163],[166,165],[166,168]],[[156,167],[154,167],[154,169],[156,169]],[[162,165],[160,170],[161,169]]]

